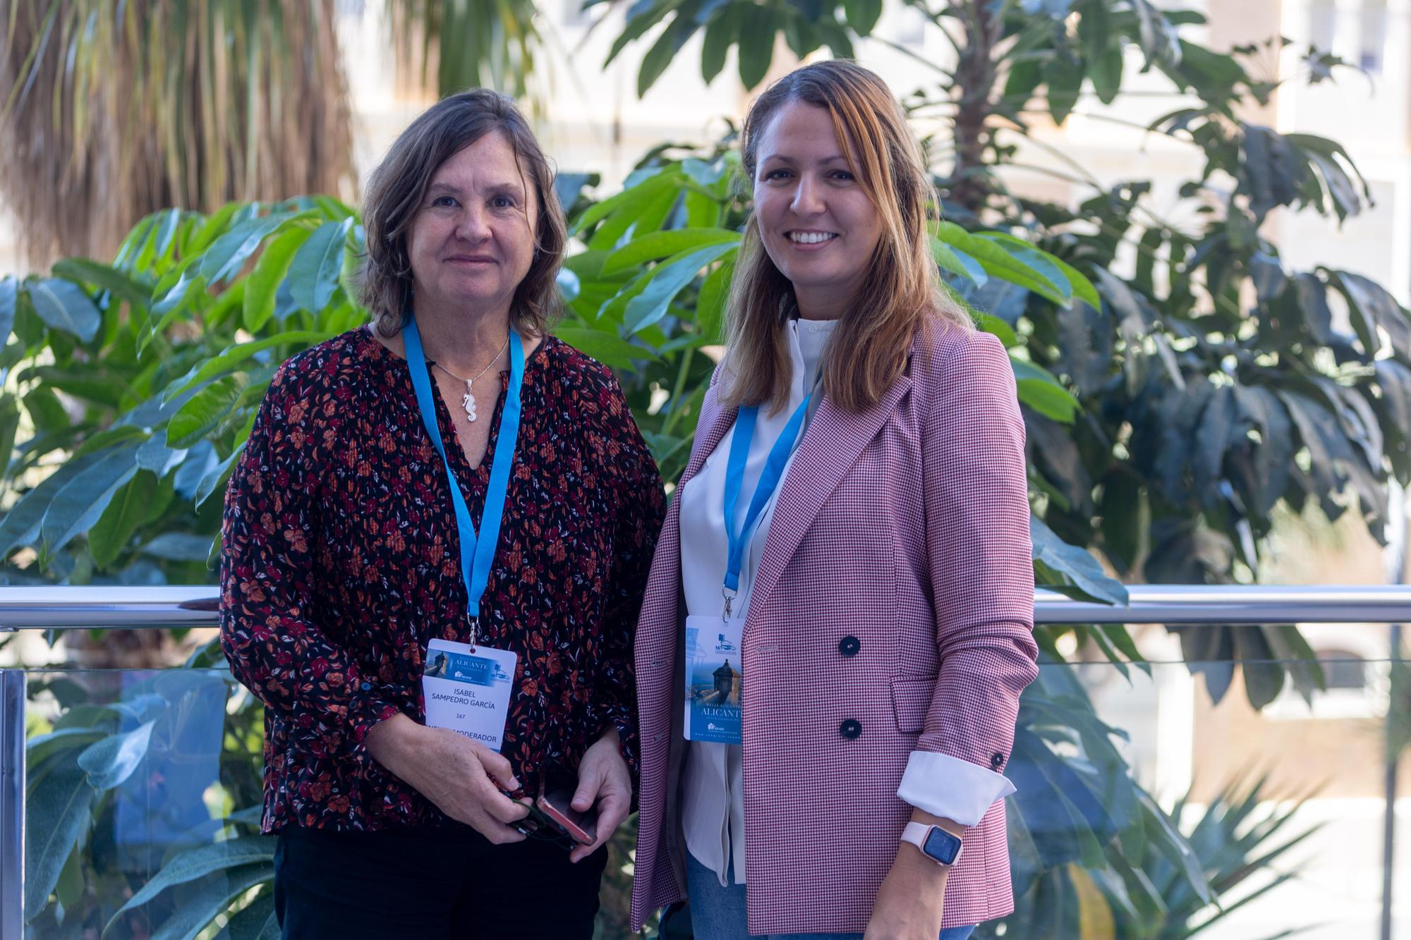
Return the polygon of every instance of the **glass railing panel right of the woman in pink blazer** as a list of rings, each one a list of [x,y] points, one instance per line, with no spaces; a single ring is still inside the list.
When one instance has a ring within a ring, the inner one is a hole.
[[[1328,656],[1326,687],[1276,686],[1300,668],[1043,666],[1006,769],[1017,908],[981,936],[1380,937],[1388,723],[1411,792],[1407,663]],[[1411,803],[1394,807],[1407,898]]]

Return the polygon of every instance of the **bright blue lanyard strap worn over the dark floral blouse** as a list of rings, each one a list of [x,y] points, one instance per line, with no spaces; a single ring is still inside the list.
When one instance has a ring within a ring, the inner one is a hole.
[[[499,436],[495,439],[495,460],[490,464],[490,487],[485,490],[485,508],[480,514],[480,535],[470,519],[466,497],[460,493],[456,474],[450,470],[446,445],[440,439],[436,423],[436,399],[432,398],[432,381],[426,371],[426,354],[422,353],[422,336],[416,330],[416,319],[406,318],[402,327],[406,344],[406,366],[412,374],[412,388],[416,390],[416,405],[422,409],[422,423],[432,445],[446,464],[446,483],[450,487],[450,501],[456,507],[456,526],[460,531],[460,576],[466,582],[466,615],[471,620],[470,645],[476,645],[474,627],[480,620],[480,598],[490,582],[490,566],[495,560],[499,545],[499,522],[505,515],[505,494],[509,490],[509,466],[515,460],[515,445],[519,440],[519,390],[525,381],[525,351],[519,335],[509,330],[509,390],[505,392],[505,409],[499,415]]]

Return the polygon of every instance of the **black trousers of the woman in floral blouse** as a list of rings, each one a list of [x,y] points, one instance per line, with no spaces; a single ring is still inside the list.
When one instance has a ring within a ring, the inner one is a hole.
[[[577,865],[533,838],[468,827],[286,828],[274,855],[284,940],[591,940],[607,848]]]

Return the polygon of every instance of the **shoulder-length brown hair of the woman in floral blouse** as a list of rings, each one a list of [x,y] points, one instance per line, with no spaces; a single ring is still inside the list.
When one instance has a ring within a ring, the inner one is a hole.
[[[528,169],[539,196],[535,257],[515,289],[509,322],[521,333],[542,336],[559,313],[557,277],[567,226],[553,191],[553,168],[512,99],[471,89],[432,104],[401,133],[373,171],[363,209],[367,253],[357,272],[357,294],[373,311],[377,332],[394,336],[412,303],[412,264],[406,234],[443,162],[491,133],[501,133]],[[528,186],[526,186],[528,188]]]

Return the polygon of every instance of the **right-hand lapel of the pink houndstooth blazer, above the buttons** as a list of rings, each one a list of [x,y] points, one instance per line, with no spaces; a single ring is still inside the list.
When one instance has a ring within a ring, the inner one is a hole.
[[[897,402],[912,387],[907,375],[900,375],[872,408],[861,414],[835,408],[832,399],[824,398],[814,412],[809,429],[794,454],[789,473],[779,490],[779,501],[765,536],[765,549],[759,556],[759,570],[749,594],[749,618],[763,608],[765,600],[779,582],[789,559],[794,556],[804,534],[813,525],[818,510],[838,488],[864,447],[876,436]],[[717,439],[718,443],[718,439]],[[746,621],[748,628],[748,621]]]

